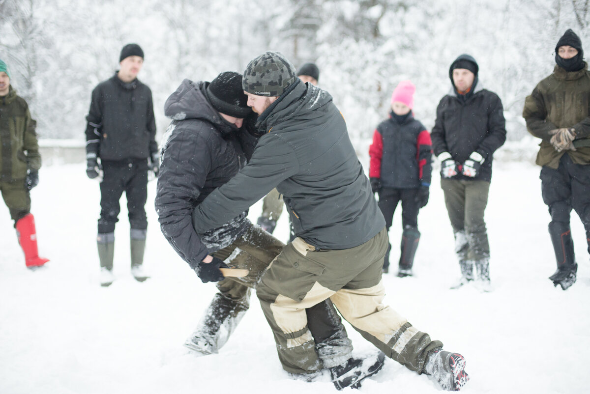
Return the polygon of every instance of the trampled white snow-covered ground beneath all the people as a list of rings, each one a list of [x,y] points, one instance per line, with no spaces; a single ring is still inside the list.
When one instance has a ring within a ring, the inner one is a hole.
[[[539,168],[496,162],[487,224],[494,291],[449,290],[458,278],[453,235],[434,175],[419,216],[422,239],[415,277],[385,275],[386,301],[420,330],[461,352],[471,377],[467,393],[581,393],[590,386],[590,265],[584,229],[573,215],[578,282],[554,288],[555,270],[540,196]],[[137,283],[129,269],[125,200],[116,229],[111,287],[99,285],[96,219],[99,186],[83,165],[46,166],[32,191],[41,255],[47,267],[25,268],[8,209],[0,204],[0,393],[326,393],[319,382],[290,380],[280,367],[260,306],[251,310],[221,353],[195,357],[182,346],[215,293],[175,254],[159,230],[149,184],[146,268]],[[259,202],[250,219],[260,214]],[[398,208],[398,211],[401,208]],[[287,238],[287,218],[276,235]],[[398,258],[401,224],[390,237]],[[348,327],[357,354],[373,347]],[[348,389],[350,391],[351,389]],[[435,393],[438,387],[386,360],[364,393]]]

